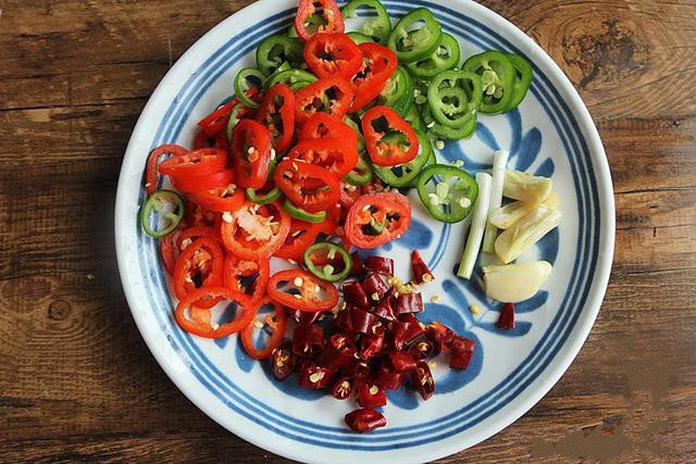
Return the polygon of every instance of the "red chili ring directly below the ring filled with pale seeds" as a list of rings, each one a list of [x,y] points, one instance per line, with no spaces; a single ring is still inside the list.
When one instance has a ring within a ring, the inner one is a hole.
[[[271,266],[268,259],[243,260],[229,253],[225,256],[223,266],[225,287],[247,294],[252,302],[263,298],[270,277]],[[245,285],[247,283],[248,285]]]

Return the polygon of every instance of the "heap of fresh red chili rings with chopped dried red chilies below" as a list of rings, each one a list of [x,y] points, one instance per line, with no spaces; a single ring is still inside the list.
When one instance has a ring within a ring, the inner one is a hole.
[[[311,3],[301,0],[300,11]],[[467,368],[473,341],[442,324],[424,327],[418,321],[423,302],[415,288],[433,276],[415,251],[414,278],[406,286],[394,277],[391,260],[371,256],[363,265],[352,253],[343,262],[352,279],[340,287],[340,305],[334,280],[316,272],[294,268],[271,276],[272,256],[307,262],[306,250],[322,235],[337,237],[350,252],[352,246],[373,249],[397,239],[410,226],[406,197],[386,191],[378,180],[345,181],[360,175],[360,166],[357,133],[343,118],[381,93],[398,60],[384,46],[352,42],[343,34],[335,2],[322,4],[324,13],[335,14],[319,33],[310,35],[301,21],[297,26],[307,65],[319,78],[296,91],[284,84],[252,87],[198,123],[192,150],[156,148],[146,167],[141,222],[160,239],[183,329],[206,338],[239,333],[251,358],[272,358],[278,380],[297,372],[302,387],[330,389],[340,400],[355,394],[361,409],[346,415],[346,423],[370,431],[386,425],[374,407],[386,404],[387,389],[410,379],[427,400],[435,390],[427,359],[449,351],[450,366]],[[361,126],[373,165],[400,165],[417,156],[418,137],[394,110],[373,105]],[[386,133],[405,141],[384,138]],[[169,176],[184,198],[158,191],[159,175]],[[170,225],[156,230],[150,213],[172,198]],[[316,258],[324,268],[341,264],[331,252],[312,255],[310,263]],[[233,302],[236,311],[232,321],[216,324],[213,308],[221,301]],[[273,315],[258,321],[269,304]],[[324,334],[314,323],[330,314],[331,334]],[[290,318],[297,328],[291,341],[284,341]],[[257,348],[253,329],[261,327],[271,336]]]

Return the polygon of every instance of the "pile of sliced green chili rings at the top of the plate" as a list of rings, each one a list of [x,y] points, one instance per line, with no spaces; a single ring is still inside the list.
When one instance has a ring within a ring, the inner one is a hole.
[[[380,0],[351,0],[341,14],[345,18],[364,18],[359,30],[347,32],[353,41],[382,43],[396,53],[399,66],[373,104],[390,106],[409,122],[421,146],[417,158],[407,164],[373,166],[359,122],[346,116],[344,122],[358,135],[360,155],[358,165],[345,180],[362,186],[376,176],[394,188],[417,188],[433,217],[447,223],[462,221],[475,202],[476,184],[460,167],[437,164],[432,140],[438,140],[442,147],[442,139],[469,138],[476,130],[480,113],[501,114],[517,108],[532,83],[532,65],[523,57],[495,50],[475,54],[462,63],[458,40],[442,29],[426,8],[410,11],[395,25]],[[323,21],[320,14],[310,17],[314,25]],[[266,37],[256,52],[257,67],[241,70],[234,81],[237,97],[254,108],[258,103],[246,95],[251,86],[265,90],[283,83],[297,91],[316,80],[316,76],[304,71],[302,50],[295,27],[287,34]],[[241,105],[235,109],[238,108]],[[227,134],[238,121],[233,110]],[[247,197],[263,204],[277,199],[279,191],[274,188],[259,193],[248,189]],[[308,213],[286,203],[285,210],[302,221],[321,222],[326,214]]]

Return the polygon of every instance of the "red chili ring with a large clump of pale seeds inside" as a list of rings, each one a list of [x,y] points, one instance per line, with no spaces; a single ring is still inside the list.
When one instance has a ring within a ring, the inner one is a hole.
[[[247,201],[223,221],[225,249],[243,260],[261,260],[275,253],[290,231],[290,216],[277,204]]]

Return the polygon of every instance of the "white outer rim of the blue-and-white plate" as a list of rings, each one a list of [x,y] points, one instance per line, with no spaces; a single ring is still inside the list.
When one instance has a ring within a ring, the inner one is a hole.
[[[289,2],[290,0],[286,0]],[[512,406],[505,411],[504,419],[494,421],[487,427],[480,428],[478,432],[473,432],[472,435],[476,435],[471,440],[472,444],[468,444],[468,447],[472,447],[475,443],[478,443],[490,436],[499,432],[510,424],[514,423],[519,417],[525,414],[534,404],[536,404],[552,387],[558,383],[560,377],[566,373],[570,364],[576,358],[580,349],[584,344],[594,326],[594,322],[599,312],[601,301],[604,299],[606,288],[609,280],[609,274],[611,271],[611,264],[613,260],[613,248],[614,248],[614,234],[616,234],[616,217],[614,217],[614,201],[613,201],[613,187],[611,173],[609,171],[609,164],[606,156],[606,152],[601,140],[599,138],[598,130],[592,120],[589,111],[586,105],[582,101],[580,95],[576,89],[571,84],[570,79],[566,76],[566,74],[561,71],[558,64],[548,55],[548,53],[542,49],[531,37],[529,37],[524,32],[514,26],[511,22],[500,16],[498,13],[489,10],[488,8],[474,2],[473,0],[449,0],[451,3],[456,4],[461,11],[467,12],[468,9],[474,11],[478,17],[481,17],[482,22],[486,23],[488,26],[497,26],[499,29],[497,30],[500,35],[504,35],[511,42],[515,43],[520,48],[524,48],[525,52],[533,57],[539,64],[546,66],[546,68],[550,72],[549,77],[555,81],[560,83],[561,85],[557,87],[557,90],[561,95],[562,99],[570,106],[570,113],[577,120],[579,124],[579,134],[582,135],[585,139],[585,142],[588,146],[589,152],[589,162],[591,166],[595,171],[595,178],[597,180],[597,193],[598,193],[598,203],[601,205],[602,213],[599,217],[600,227],[599,227],[599,247],[598,247],[598,258],[597,265],[595,267],[595,278],[594,283],[589,288],[589,293],[587,296],[587,301],[582,309],[581,315],[575,324],[573,330],[577,330],[574,337],[569,337],[568,340],[561,346],[562,351],[566,352],[558,353],[552,360],[551,363],[555,365],[549,365],[543,371],[543,374],[539,375],[535,381],[539,383],[539,386],[526,396],[519,396],[513,401]],[[115,246],[116,246],[116,260],[119,264],[119,274],[121,277],[122,286],[124,289],[124,293],[126,294],[126,300],[128,303],[128,308],[133,314],[134,319],[136,321],[136,325],[138,330],[140,331],[148,349],[153,354],[158,364],[165,372],[167,377],[176,385],[176,387],[194,403],[197,407],[203,411],[210,418],[220,424],[223,428],[229,430],[231,432],[253,443],[254,446],[266,449],[271,452],[277,453],[278,455],[284,455],[291,459],[298,460],[307,460],[306,453],[302,453],[301,450],[303,444],[298,444],[296,447],[283,447],[282,444],[270,443],[269,441],[263,441],[262,438],[252,436],[250,432],[246,432],[243,427],[238,427],[237,429],[232,429],[223,424],[222,417],[217,411],[214,410],[212,404],[204,401],[202,398],[198,398],[195,394],[191,394],[191,387],[187,385],[189,381],[184,376],[181,376],[178,372],[176,372],[173,364],[170,360],[164,358],[164,353],[159,349],[160,339],[156,338],[156,331],[148,326],[148,322],[146,317],[136,310],[138,306],[138,301],[135,298],[133,286],[129,280],[126,278],[126,263],[125,263],[125,251],[123,250],[123,243],[120,241],[120,231],[122,228],[123,220],[120,218],[125,212],[129,211],[127,205],[125,204],[125,185],[127,183],[126,176],[123,175],[124,167],[126,166],[127,161],[130,156],[137,155],[137,153],[133,153],[133,146],[135,145],[135,140],[140,131],[144,130],[144,120],[145,115],[150,112],[152,106],[158,104],[160,100],[160,95],[166,90],[166,87],[172,83],[176,83],[175,76],[179,74],[182,68],[185,68],[187,63],[191,60],[196,60],[198,54],[206,55],[206,42],[212,40],[213,36],[217,34],[221,29],[233,26],[234,23],[237,23],[245,15],[249,16],[259,16],[260,14],[268,14],[269,11],[276,11],[284,8],[284,2],[276,0],[260,0],[246,8],[235,12],[231,16],[226,17],[209,32],[203,34],[192,46],[188,48],[188,50],[176,61],[176,63],[167,71],[165,76],[161,79],[160,84],[152,92],[152,96],[148,100],[145,105],[140,116],[138,117],[138,122],[135,125],[130,139],[128,141],[128,146],[126,148],[126,152],[124,155],[124,160],[121,166],[120,175],[119,175],[119,184],[116,191],[116,201],[115,201],[115,211],[114,211],[114,231],[115,231]],[[527,387],[529,389],[529,387]],[[504,413],[501,411],[500,413]],[[229,413],[225,413],[229,414]],[[498,413],[496,413],[498,414]],[[222,416],[222,415],[221,415]],[[448,446],[447,443],[450,442]],[[297,452],[293,452],[293,450],[298,450]],[[465,449],[465,448],[463,448]],[[433,452],[427,452],[425,450],[433,450]],[[461,451],[462,447],[456,440],[442,440],[438,447],[423,447],[412,449],[415,460],[433,460],[439,459],[458,451]],[[378,453],[381,459],[384,457],[383,453]],[[326,460],[324,460],[326,461]]]

